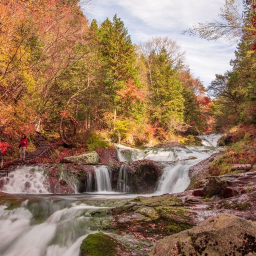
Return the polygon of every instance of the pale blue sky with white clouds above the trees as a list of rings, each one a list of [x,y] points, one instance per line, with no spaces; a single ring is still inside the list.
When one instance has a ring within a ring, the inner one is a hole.
[[[236,43],[223,38],[216,41],[182,34],[193,23],[219,20],[224,0],[94,0],[84,10],[89,20],[99,23],[116,13],[128,29],[132,42],[139,44],[155,36],[168,36],[185,51],[185,62],[204,86],[215,73],[230,69]]]

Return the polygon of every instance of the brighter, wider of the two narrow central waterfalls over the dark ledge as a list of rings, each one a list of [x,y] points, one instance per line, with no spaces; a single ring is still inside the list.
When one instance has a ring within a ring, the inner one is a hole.
[[[94,166],[94,178],[97,192],[112,191],[111,172],[106,166]]]

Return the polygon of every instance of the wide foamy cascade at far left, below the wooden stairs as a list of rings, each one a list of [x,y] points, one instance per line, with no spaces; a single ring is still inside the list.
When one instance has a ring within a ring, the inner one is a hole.
[[[49,193],[48,182],[39,166],[21,166],[0,178],[0,190],[6,193]]]

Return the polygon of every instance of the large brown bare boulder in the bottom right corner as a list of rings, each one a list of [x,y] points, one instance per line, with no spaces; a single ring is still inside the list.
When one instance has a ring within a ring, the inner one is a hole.
[[[149,256],[255,255],[255,236],[255,222],[220,214],[158,241]]]

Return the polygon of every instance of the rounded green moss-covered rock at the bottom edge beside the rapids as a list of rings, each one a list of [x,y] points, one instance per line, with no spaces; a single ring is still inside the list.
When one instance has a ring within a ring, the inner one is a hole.
[[[127,248],[102,232],[89,234],[80,245],[80,256],[129,256]]]

